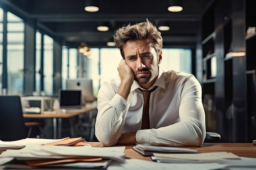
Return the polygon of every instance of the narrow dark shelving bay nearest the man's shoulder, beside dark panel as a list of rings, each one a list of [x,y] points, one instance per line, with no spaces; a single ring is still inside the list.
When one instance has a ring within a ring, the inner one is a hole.
[[[216,132],[216,100],[215,100],[215,83],[216,83],[216,53],[215,53],[215,36],[214,32],[214,3],[209,4],[208,9],[202,16],[202,100],[206,117],[206,130]]]

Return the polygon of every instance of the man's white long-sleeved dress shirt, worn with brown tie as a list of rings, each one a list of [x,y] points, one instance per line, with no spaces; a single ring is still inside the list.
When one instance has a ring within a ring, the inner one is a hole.
[[[123,132],[136,132],[138,144],[200,146],[206,136],[202,88],[188,73],[163,71],[150,94],[150,129],[141,130],[143,94],[134,81],[130,100],[117,94],[121,79],[103,83],[98,93],[95,135],[103,145],[115,145]],[[148,90],[150,90],[149,88]],[[141,88],[142,90],[145,90]]]

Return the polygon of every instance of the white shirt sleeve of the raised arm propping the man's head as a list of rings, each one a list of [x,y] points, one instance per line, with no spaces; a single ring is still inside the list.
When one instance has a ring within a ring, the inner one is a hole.
[[[101,86],[97,98],[95,135],[104,146],[115,145],[122,135],[130,103],[108,84]]]

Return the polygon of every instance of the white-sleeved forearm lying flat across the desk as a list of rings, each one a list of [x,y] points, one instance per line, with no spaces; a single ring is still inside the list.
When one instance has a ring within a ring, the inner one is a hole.
[[[198,120],[188,118],[157,129],[138,130],[136,140],[152,146],[200,146],[205,137],[203,128]]]

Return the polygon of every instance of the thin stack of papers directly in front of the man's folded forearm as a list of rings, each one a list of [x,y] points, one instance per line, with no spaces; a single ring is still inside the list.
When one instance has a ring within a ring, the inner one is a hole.
[[[153,153],[173,153],[173,152],[182,152],[182,153],[199,153],[196,150],[187,149],[187,148],[175,148],[175,147],[163,147],[163,146],[148,146],[136,144],[132,149],[139,152],[144,156],[153,156]]]

